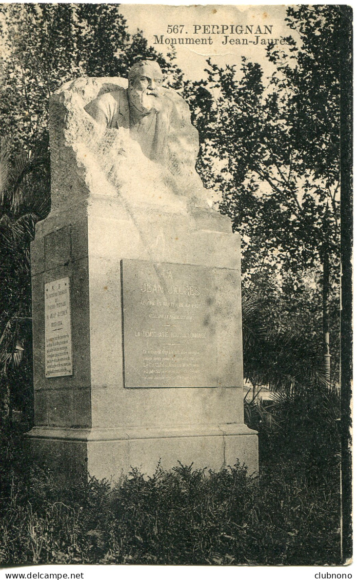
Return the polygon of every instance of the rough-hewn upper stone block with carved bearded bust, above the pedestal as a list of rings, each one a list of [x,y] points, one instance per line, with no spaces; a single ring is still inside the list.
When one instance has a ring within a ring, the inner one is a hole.
[[[189,107],[162,82],[158,64],[145,60],[128,79],[79,78],[52,95],[53,209],[72,203],[76,191],[176,212],[210,210],[217,195],[196,172],[199,134]]]

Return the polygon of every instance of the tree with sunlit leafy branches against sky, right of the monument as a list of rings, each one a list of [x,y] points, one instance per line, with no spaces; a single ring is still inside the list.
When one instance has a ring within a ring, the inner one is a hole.
[[[198,169],[243,234],[245,281],[275,272],[282,286],[294,274],[295,289],[301,271],[319,271],[326,358],[339,277],[340,19],[338,6],[289,7],[300,39],[268,46],[268,81],[245,58],[240,78],[208,60],[201,95],[199,84],[186,88],[201,134]]]

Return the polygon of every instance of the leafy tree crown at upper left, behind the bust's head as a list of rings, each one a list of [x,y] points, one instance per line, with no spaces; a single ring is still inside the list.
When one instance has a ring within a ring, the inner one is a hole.
[[[0,12],[1,135],[17,151],[48,143],[49,96],[70,79],[127,77],[135,60],[151,58],[168,84],[181,85],[174,55],[165,59],[140,31],[131,37],[119,5],[13,3]]]

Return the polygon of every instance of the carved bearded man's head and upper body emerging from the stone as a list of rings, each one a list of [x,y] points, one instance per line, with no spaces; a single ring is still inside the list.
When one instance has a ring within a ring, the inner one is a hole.
[[[129,128],[150,160],[163,165],[179,160],[194,164],[199,139],[187,104],[172,89],[164,89],[158,63],[142,60],[129,70],[128,88],[99,95],[85,106],[107,129]]]

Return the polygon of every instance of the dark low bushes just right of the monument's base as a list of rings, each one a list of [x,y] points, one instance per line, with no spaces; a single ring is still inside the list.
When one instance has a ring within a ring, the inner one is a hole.
[[[335,387],[310,385],[304,393],[275,393],[265,401],[248,393],[244,414],[246,423],[259,431],[259,456],[268,469],[276,461],[291,461],[304,466],[318,484],[322,473],[338,466],[340,392]]]

